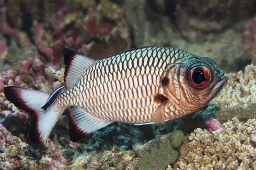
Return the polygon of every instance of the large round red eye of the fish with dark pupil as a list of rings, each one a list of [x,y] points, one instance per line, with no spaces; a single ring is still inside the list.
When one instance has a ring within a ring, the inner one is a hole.
[[[204,88],[211,80],[211,71],[209,68],[201,65],[191,68],[188,74],[189,84],[193,88]]]

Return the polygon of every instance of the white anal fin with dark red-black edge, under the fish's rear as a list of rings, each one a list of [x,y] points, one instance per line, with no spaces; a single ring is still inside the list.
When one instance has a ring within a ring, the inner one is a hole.
[[[84,137],[112,122],[104,122],[86,113],[83,108],[72,108],[68,113],[70,118],[69,136],[72,142],[79,142]]]

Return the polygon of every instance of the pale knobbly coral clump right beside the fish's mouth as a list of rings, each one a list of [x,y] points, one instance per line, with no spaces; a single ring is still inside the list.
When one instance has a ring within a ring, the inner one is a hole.
[[[222,107],[248,106],[256,103],[256,66],[247,65],[244,72],[230,74],[227,85],[213,101]]]

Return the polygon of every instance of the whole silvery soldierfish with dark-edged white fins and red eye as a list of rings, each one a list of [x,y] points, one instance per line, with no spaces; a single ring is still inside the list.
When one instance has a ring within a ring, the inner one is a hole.
[[[94,60],[64,48],[65,86],[52,94],[4,88],[6,99],[33,115],[29,137],[43,142],[70,109],[73,142],[113,122],[160,123],[207,105],[227,76],[212,61],[167,47],[131,49]]]

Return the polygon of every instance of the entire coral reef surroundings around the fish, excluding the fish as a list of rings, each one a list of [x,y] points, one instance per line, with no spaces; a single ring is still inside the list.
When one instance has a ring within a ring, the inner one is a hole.
[[[0,0],[0,170],[255,170],[255,9],[254,0]],[[31,116],[5,86],[64,85],[64,47],[100,59],[143,46],[212,58],[227,85],[166,125],[113,123],[77,143],[64,112],[46,148],[30,144]]]

